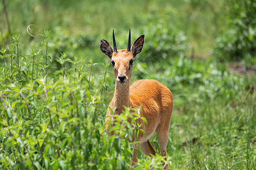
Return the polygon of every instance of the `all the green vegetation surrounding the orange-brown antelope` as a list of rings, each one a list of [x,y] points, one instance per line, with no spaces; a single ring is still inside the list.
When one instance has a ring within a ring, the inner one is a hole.
[[[113,28],[118,49],[129,28],[132,41],[145,35],[131,82],[155,79],[172,91],[170,169],[255,169],[255,6],[3,0],[0,169],[163,168],[160,155],[130,165],[139,109],[133,124],[127,108],[106,134],[115,80],[99,44],[112,42]],[[150,141],[160,154],[156,134]]]

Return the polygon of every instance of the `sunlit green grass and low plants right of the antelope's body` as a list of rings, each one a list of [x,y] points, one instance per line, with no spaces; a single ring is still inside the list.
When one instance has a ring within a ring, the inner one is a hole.
[[[221,72],[210,59],[175,59],[171,68],[162,65],[163,73],[153,71],[155,66],[145,68],[151,73],[146,78],[158,77],[174,95],[167,151],[174,168],[253,168],[255,76]],[[157,138],[152,141],[157,148]]]

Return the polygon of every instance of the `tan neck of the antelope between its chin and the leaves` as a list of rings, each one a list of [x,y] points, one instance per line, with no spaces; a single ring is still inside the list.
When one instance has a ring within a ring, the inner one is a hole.
[[[127,80],[125,83],[120,83],[115,80],[115,92],[113,97],[113,107],[117,110],[114,114],[121,114],[122,111],[125,109],[125,107],[131,107],[131,101],[129,96],[129,80]]]

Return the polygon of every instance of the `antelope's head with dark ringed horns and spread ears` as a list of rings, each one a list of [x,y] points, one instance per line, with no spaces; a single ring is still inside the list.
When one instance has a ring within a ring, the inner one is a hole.
[[[126,83],[130,80],[132,69],[133,69],[133,61],[138,53],[141,52],[144,43],[144,35],[138,37],[137,40],[133,42],[131,45],[131,30],[129,31],[129,39],[127,49],[117,50],[117,45],[115,44],[115,35],[113,29],[113,45],[109,44],[106,40],[101,40],[101,51],[109,56],[111,59],[110,63],[113,66],[114,75],[116,83]]]

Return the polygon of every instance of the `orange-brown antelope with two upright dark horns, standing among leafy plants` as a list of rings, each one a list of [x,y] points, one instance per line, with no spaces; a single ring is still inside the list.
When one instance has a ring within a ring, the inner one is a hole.
[[[156,151],[148,139],[156,131],[161,155],[166,157],[168,132],[173,108],[171,91],[156,80],[141,79],[130,86],[133,62],[137,54],[142,51],[143,44],[144,35],[141,35],[131,45],[131,31],[129,31],[127,49],[117,50],[114,29],[114,48],[106,40],[101,40],[100,42],[101,51],[111,59],[110,63],[113,66],[115,75],[115,91],[106,112],[106,122],[110,121],[110,109],[114,111],[114,114],[121,114],[125,110],[124,107],[138,109],[142,105],[141,117],[146,118],[147,125],[144,121],[140,121],[139,124],[142,124],[140,128],[145,131],[146,137],[144,137],[143,133],[139,133],[138,141],[140,142],[135,148],[141,148],[145,155],[155,155]],[[106,124],[105,128],[109,134],[109,124]],[[134,139],[135,135],[133,141]],[[137,161],[137,150],[134,149],[132,164],[134,165]],[[164,169],[167,168],[168,165],[166,164]]]

